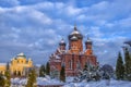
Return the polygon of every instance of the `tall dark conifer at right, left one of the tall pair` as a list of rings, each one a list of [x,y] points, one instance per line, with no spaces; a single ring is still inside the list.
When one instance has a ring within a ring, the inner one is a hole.
[[[116,76],[117,76],[117,79],[123,79],[124,77],[124,65],[123,65],[123,61],[120,52],[117,59]]]

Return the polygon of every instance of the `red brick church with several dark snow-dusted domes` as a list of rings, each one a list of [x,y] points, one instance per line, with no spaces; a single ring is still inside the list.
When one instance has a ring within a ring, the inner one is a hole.
[[[74,26],[73,32],[68,36],[69,46],[63,39],[59,42],[59,47],[49,58],[50,72],[60,72],[64,65],[66,76],[76,76],[79,70],[83,70],[85,65],[97,66],[96,55],[93,53],[92,40],[87,37],[83,44],[83,35]],[[83,49],[85,48],[85,49]]]

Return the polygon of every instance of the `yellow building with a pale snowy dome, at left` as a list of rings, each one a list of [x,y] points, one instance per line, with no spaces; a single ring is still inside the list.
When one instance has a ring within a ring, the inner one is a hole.
[[[2,74],[5,72],[5,64],[0,65]],[[27,60],[24,53],[19,53],[10,62],[10,71],[12,75],[24,76],[26,75],[26,70],[31,67],[33,67],[33,61],[31,59]]]

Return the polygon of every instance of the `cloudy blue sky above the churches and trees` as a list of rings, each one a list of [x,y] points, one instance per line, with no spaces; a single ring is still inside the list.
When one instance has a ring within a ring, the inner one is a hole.
[[[131,0],[0,0],[0,62],[20,52],[45,63],[74,24],[93,40],[100,64],[116,64],[131,39]]]

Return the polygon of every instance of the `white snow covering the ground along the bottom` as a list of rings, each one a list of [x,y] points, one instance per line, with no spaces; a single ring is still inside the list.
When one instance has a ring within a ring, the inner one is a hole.
[[[37,85],[64,85],[63,87],[131,87],[131,82],[126,80],[99,80],[99,82],[82,82],[72,83],[73,77],[68,77],[67,83],[61,83],[58,79],[51,79],[47,77],[37,77]],[[26,84],[26,78],[12,78],[12,84],[16,84],[16,87],[21,87]],[[109,85],[108,85],[109,84]]]

